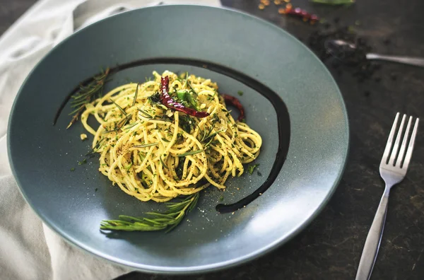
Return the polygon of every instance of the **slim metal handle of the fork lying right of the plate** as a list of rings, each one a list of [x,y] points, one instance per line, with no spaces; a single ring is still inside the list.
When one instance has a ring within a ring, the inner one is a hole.
[[[368,280],[370,279],[372,268],[377,258],[377,253],[382,240],[384,222],[386,221],[387,204],[389,202],[390,188],[386,186],[382,199],[380,200],[377,213],[375,214],[374,221],[370,231],[365,240],[363,253],[360,257],[358,272],[356,272],[355,280]]]

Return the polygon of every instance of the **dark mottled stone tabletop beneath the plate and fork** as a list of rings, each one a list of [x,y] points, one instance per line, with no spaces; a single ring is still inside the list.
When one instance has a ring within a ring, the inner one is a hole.
[[[0,34],[33,0],[2,1]],[[329,23],[355,25],[375,52],[424,57],[424,2],[357,1],[346,7],[293,0]],[[259,10],[259,0],[223,0],[225,6],[252,13],[306,41],[317,26],[278,14],[273,4]],[[281,52],[284,52],[283,47]],[[290,54],[288,54],[290,55]],[[354,279],[367,232],[384,183],[378,167],[396,112],[424,117],[424,69],[382,63],[375,78],[358,81],[328,64],[346,101],[351,149],[346,171],[329,204],[298,236],[247,264],[204,275],[158,276],[134,272],[135,279]],[[378,80],[378,79],[377,79]],[[423,126],[421,126],[422,129]],[[408,174],[392,189],[387,222],[372,279],[424,279],[424,133],[420,131]]]

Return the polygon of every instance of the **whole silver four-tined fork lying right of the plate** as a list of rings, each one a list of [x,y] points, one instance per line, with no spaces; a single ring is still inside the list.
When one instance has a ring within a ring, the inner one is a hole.
[[[409,117],[408,124],[406,125],[404,132],[404,140],[402,141],[399,149],[399,143],[403,134],[402,132],[404,130],[405,119],[406,115],[402,117],[401,125],[399,126],[396,140],[393,144],[394,134],[396,133],[396,127],[399,120],[399,112],[396,114],[389,134],[389,139],[387,140],[386,148],[384,149],[379,171],[380,176],[386,183],[386,187],[384,188],[384,193],[382,199],[380,200],[374,221],[372,221],[370,232],[367,235],[367,240],[365,241],[364,250],[360,257],[358,272],[356,273],[355,280],[370,279],[372,268],[374,267],[375,259],[377,258],[379,245],[382,240],[390,189],[397,183],[401,182],[401,180],[404,180],[406,170],[408,170],[409,161],[411,161],[413,144],[415,143],[418,122],[420,119],[416,119],[411,138],[408,139],[413,119],[412,117]]]

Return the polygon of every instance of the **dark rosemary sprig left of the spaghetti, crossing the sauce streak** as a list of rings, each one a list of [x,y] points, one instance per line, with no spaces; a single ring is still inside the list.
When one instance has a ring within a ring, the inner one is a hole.
[[[102,73],[100,73],[98,76],[94,76],[90,83],[85,86],[81,85],[78,91],[76,91],[76,93],[71,96],[71,108],[73,111],[69,113],[69,115],[73,115],[73,117],[66,129],[69,129],[69,127],[71,127],[71,125],[78,120],[78,117],[83,112],[86,104],[93,102],[93,100],[102,95],[103,86],[105,86],[106,78],[107,75],[109,75],[109,72],[110,69],[107,68],[106,71],[102,71]]]

